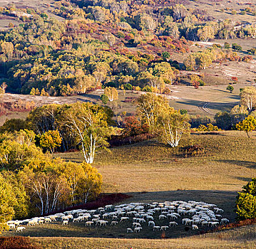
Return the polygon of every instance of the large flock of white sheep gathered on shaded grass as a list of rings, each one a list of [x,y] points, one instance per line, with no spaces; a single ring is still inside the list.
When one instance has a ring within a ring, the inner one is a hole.
[[[223,210],[215,204],[198,201],[165,201],[162,203],[129,203],[118,206],[107,205],[96,210],[77,209],[56,213],[46,217],[35,217],[24,221],[8,221],[9,228],[16,228],[16,232],[24,231],[25,226],[36,226],[42,223],[83,222],[85,226],[116,226],[121,223],[129,225],[127,233],[138,233],[145,226],[153,231],[166,231],[170,227],[178,226],[178,221],[185,226],[197,230],[199,226],[218,226],[228,223],[222,218]],[[161,226],[160,226],[161,223]],[[164,226],[163,226],[164,225]]]

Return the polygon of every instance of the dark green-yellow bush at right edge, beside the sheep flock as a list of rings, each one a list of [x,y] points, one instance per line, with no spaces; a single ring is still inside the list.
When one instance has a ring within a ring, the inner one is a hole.
[[[256,218],[256,178],[252,178],[252,181],[249,181],[242,189],[242,192],[238,192],[235,202],[237,219]]]

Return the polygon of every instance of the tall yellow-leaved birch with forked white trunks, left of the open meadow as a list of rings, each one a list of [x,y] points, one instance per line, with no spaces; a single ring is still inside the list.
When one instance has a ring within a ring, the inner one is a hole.
[[[92,164],[96,152],[108,147],[109,128],[103,107],[76,103],[66,110],[66,126],[75,135],[86,163]]]

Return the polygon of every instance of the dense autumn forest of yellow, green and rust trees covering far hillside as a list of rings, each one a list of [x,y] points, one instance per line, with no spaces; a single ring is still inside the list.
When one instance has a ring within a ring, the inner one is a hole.
[[[252,60],[254,51],[239,56],[235,42],[193,51],[196,41],[255,38],[256,26],[212,20],[185,2],[167,1],[163,7],[161,1],[55,1],[53,12],[64,22],[34,9],[1,8],[4,15],[31,15],[17,17],[22,23],[0,34],[1,82],[9,92],[46,96],[108,86],[130,90],[130,85],[168,93],[165,85],[178,84],[180,70]],[[255,9],[245,12],[253,15]],[[183,60],[172,59],[176,53]]]

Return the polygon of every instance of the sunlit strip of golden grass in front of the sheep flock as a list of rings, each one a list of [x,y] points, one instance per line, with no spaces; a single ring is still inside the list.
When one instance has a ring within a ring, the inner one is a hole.
[[[127,238],[31,238],[41,248],[84,249],[164,249],[164,248],[255,248],[256,226],[235,228],[214,234],[176,239],[127,239]],[[242,235],[242,236],[241,236]]]

